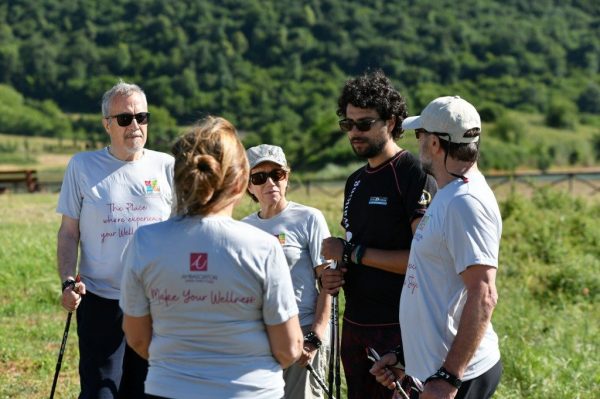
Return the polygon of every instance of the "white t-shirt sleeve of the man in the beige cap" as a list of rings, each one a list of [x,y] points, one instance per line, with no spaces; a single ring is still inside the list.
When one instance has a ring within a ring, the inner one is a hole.
[[[498,221],[476,198],[467,195],[450,202],[444,233],[457,274],[472,265],[498,267]]]

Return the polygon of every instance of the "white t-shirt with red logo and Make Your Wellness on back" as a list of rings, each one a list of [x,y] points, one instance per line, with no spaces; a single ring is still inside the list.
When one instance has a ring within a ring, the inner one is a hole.
[[[174,217],[140,228],[127,250],[121,307],[152,317],[146,393],[283,396],[266,325],[298,314],[275,237],[230,217]]]

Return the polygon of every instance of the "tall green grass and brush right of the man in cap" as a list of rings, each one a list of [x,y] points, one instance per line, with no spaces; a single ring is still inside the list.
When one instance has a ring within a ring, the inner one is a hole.
[[[599,203],[540,190],[509,198],[501,211],[498,396],[599,397]]]

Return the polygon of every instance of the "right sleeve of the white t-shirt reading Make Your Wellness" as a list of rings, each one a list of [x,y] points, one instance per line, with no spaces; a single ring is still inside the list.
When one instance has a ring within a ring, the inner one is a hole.
[[[298,314],[298,305],[283,249],[275,241],[265,264],[263,320],[268,325],[281,324]]]

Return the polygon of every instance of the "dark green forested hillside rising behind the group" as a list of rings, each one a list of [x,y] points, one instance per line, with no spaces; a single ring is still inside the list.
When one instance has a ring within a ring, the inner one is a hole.
[[[248,145],[283,145],[297,168],[316,169],[353,159],[348,145],[333,145],[345,140],[336,99],[344,81],[367,68],[392,78],[410,113],[439,95],[459,94],[489,122],[508,108],[545,114],[546,124],[567,130],[598,123],[600,2],[0,4],[4,133],[101,133],[100,96],[123,78],[145,89],[156,143],[176,134],[177,125],[218,114]],[[516,124],[501,127],[496,139],[518,146]]]

